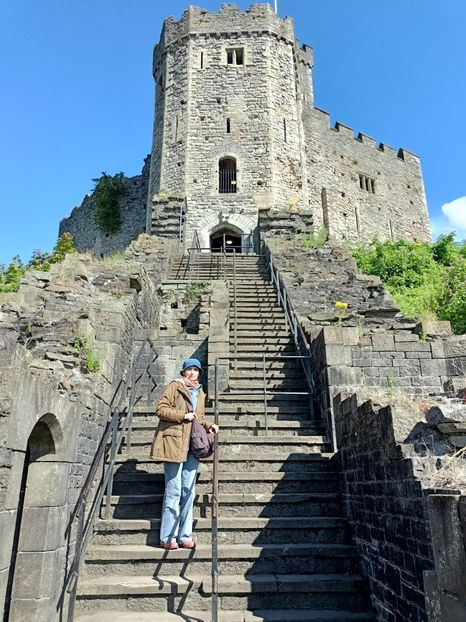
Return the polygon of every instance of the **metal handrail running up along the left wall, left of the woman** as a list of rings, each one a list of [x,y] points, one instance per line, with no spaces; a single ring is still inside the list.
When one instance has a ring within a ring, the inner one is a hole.
[[[134,379],[134,372],[140,360],[142,360],[147,347],[147,365],[140,373],[139,377]],[[149,385],[147,390],[147,395],[149,398],[148,401],[149,403],[151,402],[152,390],[156,386],[155,376],[153,373],[154,360],[156,358],[157,354],[154,350],[154,345],[150,339],[147,339],[146,341],[144,341],[137,355],[133,358],[130,371],[126,374],[125,378],[121,380],[118,384],[113,400],[116,402],[116,404],[113,408],[112,406],[110,406],[111,412],[107,421],[107,425],[100,439],[86,481],[84,482],[83,488],[81,490],[75,509],[68,524],[66,530],[67,535],[71,534],[74,521],[76,518],[78,519],[74,559],[65,582],[65,589],[70,594],[67,616],[68,622],[72,622],[74,619],[76,590],[79,579],[80,567],[84,554],[86,552],[88,540],[93,533],[94,523],[97,518],[97,514],[99,512],[104,495],[106,495],[106,517],[108,518],[113,489],[113,472],[116,456],[121,448],[123,440],[126,440],[128,450],[131,448],[133,410],[136,401],[140,397],[142,397],[142,394],[138,394],[138,390],[143,378],[145,378],[146,376],[149,379]],[[152,389],[150,387],[150,382],[152,382]],[[127,397],[129,397],[128,409],[126,412],[121,412],[123,400]],[[89,512],[87,512],[87,505],[89,501],[91,501],[89,497],[93,490],[94,479],[97,474],[97,470],[102,466],[102,464],[105,465],[105,454],[106,451],[108,451],[110,439],[111,444],[108,454],[109,460],[107,462],[107,469],[105,472],[104,468],[104,473],[102,474],[102,477],[99,481],[95,496],[92,499],[92,504],[90,506]]]

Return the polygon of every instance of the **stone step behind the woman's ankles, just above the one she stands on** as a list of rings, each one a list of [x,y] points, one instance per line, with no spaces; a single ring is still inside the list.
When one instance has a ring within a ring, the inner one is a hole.
[[[98,520],[93,544],[146,544],[158,545],[160,519],[151,520]],[[210,544],[212,523],[210,518],[194,521],[198,544]],[[219,544],[272,544],[303,542],[345,544],[349,540],[346,519],[341,517],[279,517],[241,518],[238,528],[236,517],[220,515],[218,519]]]

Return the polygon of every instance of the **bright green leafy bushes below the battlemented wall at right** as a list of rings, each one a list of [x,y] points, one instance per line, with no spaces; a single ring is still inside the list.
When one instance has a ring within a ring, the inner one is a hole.
[[[466,244],[455,234],[433,244],[404,240],[353,249],[359,268],[379,276],[408,317],[449,320],[455,333],[466,332]]]

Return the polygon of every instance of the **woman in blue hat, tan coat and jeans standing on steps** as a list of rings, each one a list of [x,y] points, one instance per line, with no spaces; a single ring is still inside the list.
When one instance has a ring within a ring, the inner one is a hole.
[[[195,547],[193,503],[198,459],[189,451],[191,422],[196,418],[208,432],[218,432],[215,423],[204,420],[205,393],[199,384],[201,372],[198,359],[184,361],[181,378],[170,382],[155,411],[160,422],[150,456],[164,463],[160,545],[167,550]]]

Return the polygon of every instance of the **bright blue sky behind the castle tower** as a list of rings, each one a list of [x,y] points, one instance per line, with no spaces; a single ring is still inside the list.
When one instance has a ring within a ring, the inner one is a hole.
[[[102,171],[140,172],[152,48],[186,6],[0,0],[0,263],[50,250]],[[434,234],[466,238],[466,2],[278,0],[278,13],[314,48],[316,105],[420,155]]]

